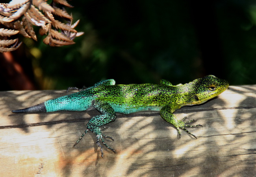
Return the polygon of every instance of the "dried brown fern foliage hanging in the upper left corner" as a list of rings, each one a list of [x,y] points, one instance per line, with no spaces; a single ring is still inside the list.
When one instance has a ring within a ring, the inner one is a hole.
[[[74,30],[79,20],[71,24],[72,15],[63,6],[72,7],[66,0],[52,0],[51,4],[47,0],[11,0],[9,4],[0,3],[0,23],[9,28],[0,27],[0,52],[12,51],[20,46],[18,38],[7,39],[18,33],[37,41],[33,26],[40,26],[39,34],[47,35],[43,40],[45,44],[74,44],[73,39],[83,33]]]

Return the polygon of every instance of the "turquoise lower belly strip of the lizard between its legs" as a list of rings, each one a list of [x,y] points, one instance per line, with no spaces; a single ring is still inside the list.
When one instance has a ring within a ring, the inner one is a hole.
[[[111,107],[117,113],[131,114],[141,111],[160,111],[161,107],[158,106],[138,106],[138,105],[128,105],[128,104],[110,104]]]

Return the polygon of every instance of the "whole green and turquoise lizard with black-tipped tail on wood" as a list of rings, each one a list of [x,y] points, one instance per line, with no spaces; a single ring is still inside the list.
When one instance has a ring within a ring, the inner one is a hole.
[[[130,84],[115,85],[115,80],[108,79],[96,83],[94,86],[67,96],[62,96],[41,104],[25,109],[14,110],[14,113],[27,112],[54,112],[54,111],[89,111],[97,109],[101,115],[97,115],[87,123],[87,129],[74,144],[91,131],[96,135],[96,144],[100,147],[103,157],[102,145],[115,152],[109,147],[104,138],[112,137],[102,134],[100,128],[112,122],[116,118],[116,112],[130,114],[140,111],[160,111],[161,117],[168,123],[174,125],[180,136],[180,129],[190,135],[195,135],[187,131],[186,127],[199,127],[202,125],[186,125],[196,120],[184,122],[177,120],[173,112],[187,105],[196,105],[206,102],[219,95],[228,88],[228,82],[209,75],[200,79],[195,79],[184,85],[172,85],[169,81],[162,79],[160,85],[157,84]]]

